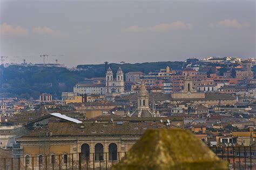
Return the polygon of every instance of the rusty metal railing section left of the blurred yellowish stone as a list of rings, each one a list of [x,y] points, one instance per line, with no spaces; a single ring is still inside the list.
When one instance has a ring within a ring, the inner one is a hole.
[[[85,157],[81,153],[0,158],[0,169],[110,169],[117,164],[126,152],[90,153]],[[66,156],[64,156],[66,155]]]

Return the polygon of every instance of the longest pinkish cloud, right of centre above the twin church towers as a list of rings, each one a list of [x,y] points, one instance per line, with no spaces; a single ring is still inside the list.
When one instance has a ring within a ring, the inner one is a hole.
[[[182,21],[173,23],[162,23],[153,26],[139,27],[137,25],[129,26],[124,29],[126,32],[142,32],[142,31],[153,31],[153,32],[166,32],[170,30],[181,30],[181,29],[192,29],[192,24],[188,24]]]

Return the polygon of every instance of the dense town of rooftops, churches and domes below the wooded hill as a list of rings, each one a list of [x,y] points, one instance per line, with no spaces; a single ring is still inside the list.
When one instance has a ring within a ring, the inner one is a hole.
[[[52,167],[59,155],[64,163],[72,155],[89,159],[90,167],[111,166],[147,129],[181,128],[219,157],[230,154],[231,167],[240,157],[251,157],[246,168],[255,167],[254,65],[253,58],[189,58],[182,70],[144,73],[123,72],[122,64],[114,72],[109,64],[105,77],[84,78],[61,99],[50,93],[37,100],[1,98],[0,158],[23,158],[19,165],[31,168],[43,165],[44,155]],[[240,154],[240,147],[251,151]]]

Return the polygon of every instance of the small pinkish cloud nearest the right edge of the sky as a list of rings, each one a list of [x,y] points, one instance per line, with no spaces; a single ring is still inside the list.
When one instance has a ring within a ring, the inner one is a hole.
[[[217,23],[211,23],[210,27],[231,27],[231,28],[244,28],[250,26],[250,23],[239,23],[237,19],[224,19]]]

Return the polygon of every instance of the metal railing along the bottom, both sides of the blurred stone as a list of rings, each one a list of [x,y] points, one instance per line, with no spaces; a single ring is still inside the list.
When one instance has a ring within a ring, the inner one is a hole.
[[[223,160],[229,162],[229,169],[251,169],[256,170],[256,148],[251,146],[234,147],[210,147],[212,151]],[[94,170],[110,169],[117,164],[126,152],[115,153],[90,153],[90,154],[60,154],[39,155],[19,158],[0,158],[0,169],[72,169],[72,170]],[[146,154],[146,153],[145,153]],[[66,155],[66,156],[64,156]],[[0,155],[1,156],[1,155]]]

